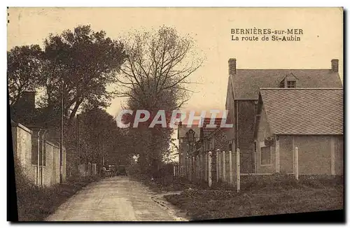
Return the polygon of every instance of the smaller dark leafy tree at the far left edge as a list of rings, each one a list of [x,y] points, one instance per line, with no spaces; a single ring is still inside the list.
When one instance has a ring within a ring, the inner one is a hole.
[[[39,45],[16,46],[7,52],[7,76],[10,106],[27,90],[40,87],[43,51]]]

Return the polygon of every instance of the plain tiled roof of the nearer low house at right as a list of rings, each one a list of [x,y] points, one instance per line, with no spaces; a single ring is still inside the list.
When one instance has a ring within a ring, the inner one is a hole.
[[[343,134],[343,90],[260,89],[273,134]]]

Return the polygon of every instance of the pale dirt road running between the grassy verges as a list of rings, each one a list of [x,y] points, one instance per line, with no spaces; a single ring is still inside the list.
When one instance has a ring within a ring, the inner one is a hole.
[[[176,209],[127,177],[106,178],[87,185],[47,221],[182,221]]]

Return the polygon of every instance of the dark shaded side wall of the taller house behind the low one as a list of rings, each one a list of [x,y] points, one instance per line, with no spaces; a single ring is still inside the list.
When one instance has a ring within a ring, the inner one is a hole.
[[[241,173],[254,173],[255,101],[237,100],[238,148],[241,153]]]

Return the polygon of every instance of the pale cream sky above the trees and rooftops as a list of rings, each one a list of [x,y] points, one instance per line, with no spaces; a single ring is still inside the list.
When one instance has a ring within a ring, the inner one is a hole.
[[[225,109],[230,58],[237,59],[237,69],[330,69],[330,60],[339,59],[342,78],[340,8],[9,8],[8,13],[8,50],[43,45],[50,33],[83,24],[104,30],[113,39],[163,24],[190,34],[205,62],[191,77],[198,84],[188,87],[195,91],[183,106],[188,111]],[[293,28],[303,34],[300,41],[232,41],[231,29],[237,28]],[[123,102],[113,99],[106,110],[115,116]]]

